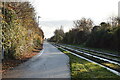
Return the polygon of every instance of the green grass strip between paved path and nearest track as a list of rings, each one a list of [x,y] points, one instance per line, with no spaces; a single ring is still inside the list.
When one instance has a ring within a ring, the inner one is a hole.
[[[78,58],[60,48],[58,49],[67,54],[70,58],[70,70],[72,79],[80,78],[80,80],[117,80],[120,78],[120,76],[113,74],[112,72],[97,64]]]

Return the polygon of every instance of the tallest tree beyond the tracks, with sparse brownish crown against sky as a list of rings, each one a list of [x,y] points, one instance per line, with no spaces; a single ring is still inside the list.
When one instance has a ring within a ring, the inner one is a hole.
[[[88,39],[93,27],[93,21],[91,19],[82,18],[74,21],[74,27],[75,28],[72,29],[72,33],[74,34],[74,41],[72,43],[81,44]]]

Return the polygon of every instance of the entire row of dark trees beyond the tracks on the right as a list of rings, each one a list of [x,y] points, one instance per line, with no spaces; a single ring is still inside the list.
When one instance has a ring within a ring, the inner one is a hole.
[[[73,21],[74,28],[64,33],[62,28],[55,30],[51,42],[79,44],[93,48],[105,48],[120,51],[120,19],[112,17],[110,22],[93,25],[91,19],[82,18]]]

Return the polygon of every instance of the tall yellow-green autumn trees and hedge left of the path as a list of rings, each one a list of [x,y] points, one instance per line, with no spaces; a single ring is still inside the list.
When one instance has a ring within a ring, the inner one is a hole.
[[[38,27],[34,7],[29,2],[2,2],[0,30],[5,59],[21,59],[42,47],[44,33]]]

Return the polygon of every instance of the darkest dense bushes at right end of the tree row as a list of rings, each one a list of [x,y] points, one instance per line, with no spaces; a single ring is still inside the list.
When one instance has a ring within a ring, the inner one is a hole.
[[[119,50],[120,27],[100,26],[96,31],[92,31],[86,45],[97,48],[107,48]]]

